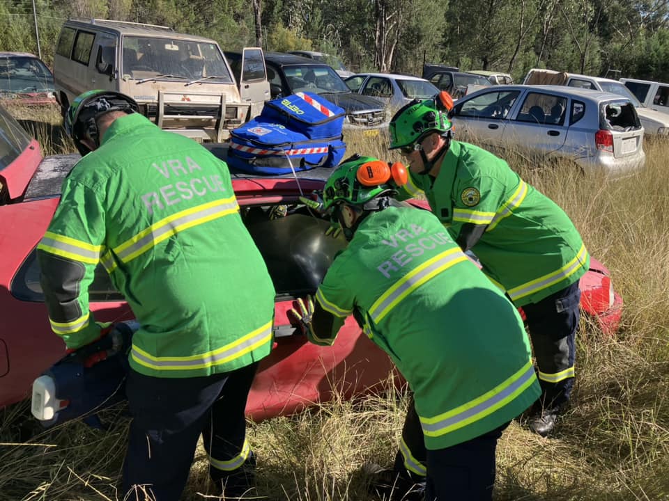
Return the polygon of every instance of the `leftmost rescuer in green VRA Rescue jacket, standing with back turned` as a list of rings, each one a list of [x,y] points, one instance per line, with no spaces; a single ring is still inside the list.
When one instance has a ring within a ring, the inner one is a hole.
[[[129,353],[124,499],[176,501],[202,434],[229,497],[252,487],[245,406],[270,353],[274,287],[226,164],[137,113],[130,97],[77,97],[66,129],[83,158],[38,245],[52,330],[70,350],[105,330],[89,310],[102,264],[141,328]]]

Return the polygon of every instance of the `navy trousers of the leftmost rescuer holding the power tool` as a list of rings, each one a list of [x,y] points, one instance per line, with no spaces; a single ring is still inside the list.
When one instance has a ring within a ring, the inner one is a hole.
[[[125,384],[132,415],[123,463],[123,495],[130,493],[125,499],[178,501],[200,434],[213,458],[212,479],[225,483],[232,476],[240,489],[248,488],[249,477],[240,475],[245,464],[253,463],[244,411],[257,367],[185,379],[131,369]],[[240,495],[226,489],[229,494]]]

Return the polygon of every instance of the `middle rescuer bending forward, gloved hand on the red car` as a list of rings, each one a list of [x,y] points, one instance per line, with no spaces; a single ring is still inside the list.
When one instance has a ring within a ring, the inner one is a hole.
[[[404,171],[406,179],[406,170]],[[293,315],[332,344],[348,315],[415,394],[428,500],[490,500],[502,430],[539,397],[518,311],[430,212],[394,202],[401,169],[354,156],[332,173],[323,210],[349,241],[316,303]]]

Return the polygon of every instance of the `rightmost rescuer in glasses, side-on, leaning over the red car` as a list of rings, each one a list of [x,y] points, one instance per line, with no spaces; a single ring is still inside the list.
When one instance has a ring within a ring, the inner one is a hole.
[[[574,383],[578,279],[590,256],[555,202],[504,160],[454,141],[451,129],[438,99],[411,102],[395,113],[390,149],[399,149],[410,166],[399,198],[423,193],[457,244],[472,250],[490,280],[523,308],[542,388],[530,429],[546,436]],[[423,460],[416,427],[405,427],[404,438],[412,443],[413,460]]]

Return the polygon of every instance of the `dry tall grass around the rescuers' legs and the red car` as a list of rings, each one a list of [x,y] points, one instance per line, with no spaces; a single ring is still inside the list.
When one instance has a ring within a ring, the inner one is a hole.
[[[379,141],[347,139],[350,153],[387,156]],[[646,150],[645,170],[617,181],[510,159],[567,210],[625,307],[615,337],[585,322],[573,406],[555,435],[539,438],[517,422],[505,432],[498,501],[669,500],[669,143],[648,142]],[[249,424],[259,497],[374,500],[363,467],[392,463],[405,406],[406,395],[390,391]],[[26,404],[2,412],[0,501],[122,499],[115,486],[128,420],[121,409],[105,413],[109,431],[72,423],[34,436]],[[199,448],[182,499],[207,498],[216,499]]]

